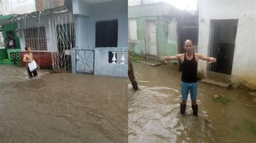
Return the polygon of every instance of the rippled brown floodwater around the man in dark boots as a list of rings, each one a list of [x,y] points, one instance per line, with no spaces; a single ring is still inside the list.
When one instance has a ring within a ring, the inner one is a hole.
[[[186,114],[180,115],[181,73],[133,65],[140,90],[134,92],[129,84],[129,142],[256,142],[256,110],[245,106],[253,105],[246,91],[199,82],[198,117],[192,115],[190,99]],[[214,94],[230,102],[217,102]]]

